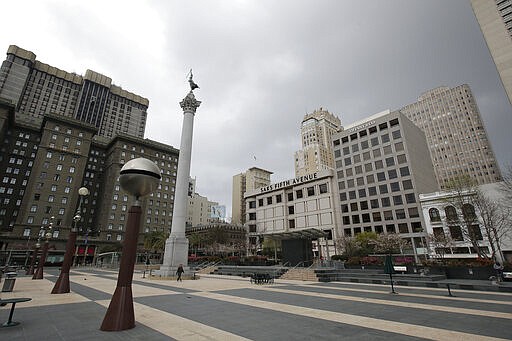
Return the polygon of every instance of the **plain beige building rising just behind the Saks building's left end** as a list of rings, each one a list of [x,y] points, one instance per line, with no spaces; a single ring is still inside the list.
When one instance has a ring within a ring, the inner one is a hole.
[[[232,218],[233,224],[244,225],[245,217],[245,198],[247,191],[270,185],[270,175],[272,172],[252,167],[245,173],[233,176],[233,192],[232,192]]]

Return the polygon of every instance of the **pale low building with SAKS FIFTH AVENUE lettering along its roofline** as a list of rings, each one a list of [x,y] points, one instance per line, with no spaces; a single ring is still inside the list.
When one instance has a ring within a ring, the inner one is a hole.
[[[269,238],[281,241],[283,263],[335,254],[341,224],[332,170],[247,191],[245,200],[251,253]]]

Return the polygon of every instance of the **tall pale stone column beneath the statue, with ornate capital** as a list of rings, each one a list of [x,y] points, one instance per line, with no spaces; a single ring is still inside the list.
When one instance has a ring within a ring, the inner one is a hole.
[[[161,276],[173,276],[178,266],[188,268],[188,239],[185,237],[187,221],[188,182],[190,179],[190,159],[192,156],[192,133],[194,116],[201,104],[196,100],[192,90],[180,102],[183,109],[183,127],[181,130],[180,156],[178,159],[178,176],[174,195],[171,234],[165,243],[164,261],[160,267]]]

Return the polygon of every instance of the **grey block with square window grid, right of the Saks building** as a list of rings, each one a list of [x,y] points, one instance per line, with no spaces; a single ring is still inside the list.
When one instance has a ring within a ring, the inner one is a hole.
[[[399,233],[425,254],[419,194],[438,189],[425,134],[384,111],[345,127],[333,145],[343,235]]]

